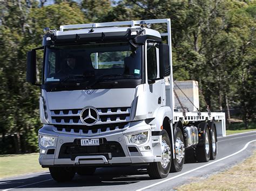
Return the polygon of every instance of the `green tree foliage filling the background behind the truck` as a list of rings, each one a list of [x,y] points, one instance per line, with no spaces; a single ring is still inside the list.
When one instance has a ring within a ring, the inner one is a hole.
[[[202,111],[205,99],[211,110],[240,107],[247,128],[249,120],[255,122],[254,1],[83,0],[78,4],[56,0],[47,6],[25,2],[0,4],[1,148],[5,135],[17,133],[25,140],[25,148],[17,144],[16,152],[37,150],[40,91],[25,82],[26,52],[41,46],[46,26],[58,29],[66,24],[171,18],[174,79],[199,82]],[[152,27],[166,32],[160,25]],[[38,58],[39,74],[42,52]]]

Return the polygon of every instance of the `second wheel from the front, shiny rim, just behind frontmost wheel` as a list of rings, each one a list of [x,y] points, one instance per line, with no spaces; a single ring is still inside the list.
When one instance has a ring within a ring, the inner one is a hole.
[[[183,168],[185,160],[185,144],[180,128],[176,129],[176,135],[174,136],[174,151],[175,158],[172,160],[171,172],[179,172]]]

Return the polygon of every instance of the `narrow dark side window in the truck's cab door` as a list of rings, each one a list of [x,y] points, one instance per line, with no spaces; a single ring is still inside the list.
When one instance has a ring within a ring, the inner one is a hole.
[[[147,47],[147,79],[157,78],[157,52],[156,47]]]

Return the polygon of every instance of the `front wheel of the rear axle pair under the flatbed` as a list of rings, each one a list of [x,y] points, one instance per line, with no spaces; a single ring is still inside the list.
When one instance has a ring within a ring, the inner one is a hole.
[[[204,127],[204,128],[203,128]],[[210,132],[207,123],[201,123],[199,129],[204,130],[202,138],[199,139],[197,146],[197,160],[198,162],[208,162],[210,160],[211,148],[210,148]]]

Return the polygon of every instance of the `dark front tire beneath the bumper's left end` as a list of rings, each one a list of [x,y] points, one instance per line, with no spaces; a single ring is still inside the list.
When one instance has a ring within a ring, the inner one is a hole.
[[[50,167],[51,177],[57,182],[71,181],[75,176],[74,167]]]

